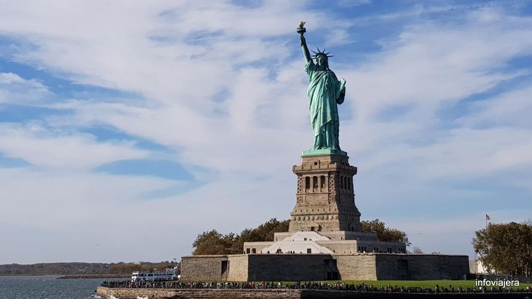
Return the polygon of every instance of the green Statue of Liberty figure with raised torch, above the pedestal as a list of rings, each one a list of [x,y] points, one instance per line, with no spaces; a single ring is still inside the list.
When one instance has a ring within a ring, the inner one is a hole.
[[[310,151],[305,151],[303,155],[312,155],[318,150],[330,150],[329,153],[339,153],[346,155],[341,151],[339,145],[339,117],[338,107],[336,104],[342,104],[345,97],[345,80],[339,81],[336,75],[329,68],[329,53],[319,50],[310,55],[307,48],[307,41],[303,37],[306,32],[303,28],[305,22],[299,23],[297,32],[299,41],[303,48],[305,57],[305,72],[309,76],[310,83],[307,89],[309,98],[310,123],[314,131],[314,146]],[[316,59],[316,63],[312,59]]]

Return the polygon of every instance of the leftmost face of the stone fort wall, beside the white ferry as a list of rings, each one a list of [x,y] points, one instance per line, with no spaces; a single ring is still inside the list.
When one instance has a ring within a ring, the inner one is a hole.
[[[222,261],[227,260],[227,255],[184,256],[181,258],[181,280],[225,280],[222,277]]]

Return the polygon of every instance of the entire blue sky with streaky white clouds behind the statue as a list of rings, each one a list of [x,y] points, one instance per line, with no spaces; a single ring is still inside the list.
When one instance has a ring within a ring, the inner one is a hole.
[[[299,21],[347,81],[362,220],[474,258],[486,214],[531,218],[532,1],[0,7],[0,264],[179,260],[288,219],[313,142]]]

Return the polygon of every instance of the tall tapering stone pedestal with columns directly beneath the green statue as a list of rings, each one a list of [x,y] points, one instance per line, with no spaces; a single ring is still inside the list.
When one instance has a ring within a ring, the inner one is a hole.
[[[289,231],[361,231],[360,212],[354,204],[353,176],[347,155],[301,156],[297,175],[296,206]]]

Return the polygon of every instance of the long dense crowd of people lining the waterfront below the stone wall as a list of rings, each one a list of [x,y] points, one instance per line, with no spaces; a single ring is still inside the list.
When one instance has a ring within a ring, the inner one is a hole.
[[[503,287],[454,287],[440,286],[436,284],[430,287],[406,287],[388,284],[374,286],[373,284],[355,284],[343,282],[295,282],[283,284],[283,282],[180,282],[180,281],[106,281],[102,287],[124,289],[319,289],[334,291],[354,292],[379,292],[379,293],[508,293],[508,292],[531,292],[530,287],[518,287],[513,289]]]

